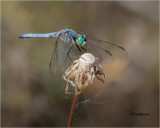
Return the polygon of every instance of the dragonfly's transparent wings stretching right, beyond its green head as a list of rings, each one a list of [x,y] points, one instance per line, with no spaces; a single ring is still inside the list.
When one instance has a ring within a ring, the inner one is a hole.
[[[127,51],[123,47],[107,41],[99,40],[91,35],[85,35],[87,42],[83,47],[87,49],[88,52],[98,57],[100,62],[113,63],[115,58],[127,56]]]

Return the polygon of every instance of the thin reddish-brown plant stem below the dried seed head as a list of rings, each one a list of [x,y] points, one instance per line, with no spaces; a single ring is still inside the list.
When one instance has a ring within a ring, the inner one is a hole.
[[[71,106],[71,110],[70,110],[70,114],[69,114],[68,128],[70,128],[72,126],[73,114],[74,114],[74,109],[75,109],[78,95],[79,95],[79,92],[74,94],[74,98],[73,98],[73,102],[72,102],[72,106]]]

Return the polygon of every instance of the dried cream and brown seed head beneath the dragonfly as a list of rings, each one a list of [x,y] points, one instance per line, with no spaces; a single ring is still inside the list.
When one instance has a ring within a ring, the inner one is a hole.
[[[91,53],[81,55],[63,75],[63,79],[67,81],[66,93],[68,93],[68,83],[75,87],[76,93],[81,92],[92,84],[95,76],[100,79],[97,75],[105,77],[97,59]]]

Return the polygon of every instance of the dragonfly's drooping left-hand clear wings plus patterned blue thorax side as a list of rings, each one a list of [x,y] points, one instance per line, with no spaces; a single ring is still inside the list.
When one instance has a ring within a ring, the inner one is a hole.
[[[77,51],[78,48],[72,43],[72,39],[72,35],[69,33],[63,33],[57,38],[57,46],[55,46],[50,60],[50,70],[52,73],[56,72],[58,66],[61,66],[65,70],[81,55]]]

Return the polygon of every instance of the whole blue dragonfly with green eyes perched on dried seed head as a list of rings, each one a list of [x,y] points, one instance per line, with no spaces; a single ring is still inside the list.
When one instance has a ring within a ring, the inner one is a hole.
[[[73,29],[64,29],[51,33],[26,33],[19,38],[53,38],[54,50],[50,59],[50,71],[55,74],[60,64],[65,70],[71,63],[84,53],[92,53],[99,62],[113,63],[116,57],[127,56],[127,51],[116,44],[97,39],[93,35],[76,32]]]

